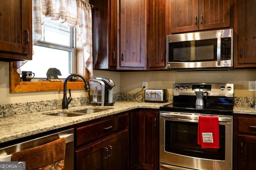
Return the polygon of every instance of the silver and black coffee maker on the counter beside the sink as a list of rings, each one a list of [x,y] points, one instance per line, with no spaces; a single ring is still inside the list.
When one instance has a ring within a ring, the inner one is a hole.
[[[92,78],[90,84],[90,104],[93,106],[113,106],[114,82],[109,78]]]

